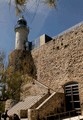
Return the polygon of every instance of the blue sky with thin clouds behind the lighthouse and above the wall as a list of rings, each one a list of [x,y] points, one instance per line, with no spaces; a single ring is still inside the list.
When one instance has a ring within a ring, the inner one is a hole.
[[[15,47],[14,27],[19,18],[15,15],[14,3],[9,7],[8,1],[0,0],[0,50],[7,58]],[[83,0],[57,0],[56,8],[50,8],[41,1],[29,2],[23,13],[30,28],[29,41],[38,39],[42,34],[57,36],[83,21]]]

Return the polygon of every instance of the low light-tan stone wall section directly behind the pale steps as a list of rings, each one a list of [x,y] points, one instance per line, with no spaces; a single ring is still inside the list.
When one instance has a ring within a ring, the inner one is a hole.
[[[34,82],[34,83],[33,83]],[[28,81],[27,84],[22,86],[21,100],[24,100],[27,96],[45,95],[48,93],[48,88],[39,84],[35,80]]]

